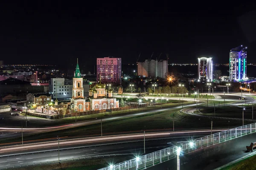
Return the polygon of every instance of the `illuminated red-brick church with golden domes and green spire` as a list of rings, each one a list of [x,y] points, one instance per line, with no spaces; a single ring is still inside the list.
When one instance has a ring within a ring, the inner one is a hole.
[[[84,97],[83,78],[81,77],[78,60],[73,77],[71,107],[75,111],[98,111],[102,109],[119,108],[119,100],[113,98],[113,90],[106,89],[101,82],[96,83],[95,88],[89,89],[89,97]]]

